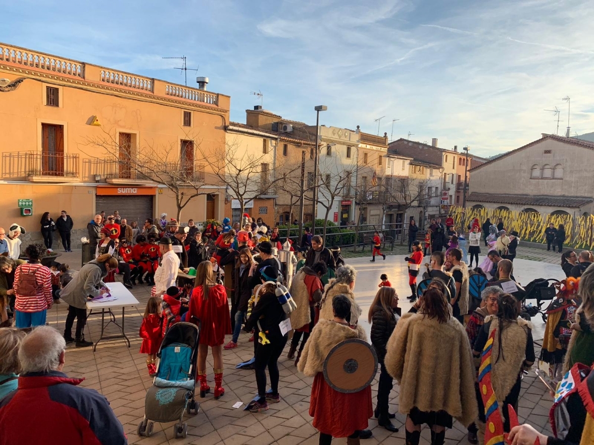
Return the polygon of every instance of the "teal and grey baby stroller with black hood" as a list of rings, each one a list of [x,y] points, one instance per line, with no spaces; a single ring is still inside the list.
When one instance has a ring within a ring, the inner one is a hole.
[[[136,430],[150,437],[153,422],[171,422],[175,438],[186,437],[188,424],[184,411],[198,414],[200,405],[194,395],[194,368],[198,356],[200,328],[179,322],[170,326],[157,353],[157,374],[144,399],[144,418]]]

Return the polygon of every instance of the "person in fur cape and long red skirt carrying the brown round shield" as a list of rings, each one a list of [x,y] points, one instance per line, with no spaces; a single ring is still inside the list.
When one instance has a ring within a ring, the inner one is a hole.
[[[334,346],[350,338],[368,341],[361,326],[346,321],[351,304],[345,295],[334,297],[333,319],[320,320],[315,325],[298,364],[299,371],[314,377],[309,415],[314,418],[314,428],[320,431],[320,445],[330,445],[333,437],[346,437],[347,445],[358,445],[359,434],[368,427],[368,419],[373,415],[371,386],[355,393],[342,393],[324,379],[324,360]]]

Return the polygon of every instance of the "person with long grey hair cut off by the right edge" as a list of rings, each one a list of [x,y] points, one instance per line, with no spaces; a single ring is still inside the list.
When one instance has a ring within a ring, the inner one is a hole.
[[[576,363],[594,364],[594,267],[589,266],[580,278],[577,294],[582,304],[574,314],[571,338],[565,354],[563,372]]]

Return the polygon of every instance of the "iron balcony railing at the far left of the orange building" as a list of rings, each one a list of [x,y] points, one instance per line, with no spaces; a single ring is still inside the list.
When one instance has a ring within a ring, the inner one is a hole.
[[[17,151],[2,153],[3,177],[79,177],[78,154]]]

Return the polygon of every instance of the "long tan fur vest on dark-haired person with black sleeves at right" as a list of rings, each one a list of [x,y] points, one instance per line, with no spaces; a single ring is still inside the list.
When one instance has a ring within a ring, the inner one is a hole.
[[[499,329],[499,320],[496,316],[489,315],[485,317],[485,324],[489,322],[491,322],[491,326],[489,326],[490,336],[494,329]],[[518,374],[522,371],[526,358],[526,334],[528,329],[532,329],[532,323],[521,317],[505,326],[505,329],[501,332],[503,357],[499,356],[499,335],[498,332],[495,333],[493,347],[491,348],[491,384],[500,406],[503,406],[503,400],[516,384]]]

